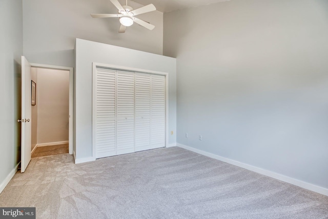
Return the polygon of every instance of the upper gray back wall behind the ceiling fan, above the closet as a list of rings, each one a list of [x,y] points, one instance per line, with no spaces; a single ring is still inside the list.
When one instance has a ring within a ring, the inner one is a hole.
[[[23,11],[24,55],[33,63],[74,67],[75,38],[162,54],[163,13],[158,11],[137,16],[155,25],[154,30],[134,24],[123,34],[118,33],[118,18],[90,16],[117,13],[108,0],[28,0]]]

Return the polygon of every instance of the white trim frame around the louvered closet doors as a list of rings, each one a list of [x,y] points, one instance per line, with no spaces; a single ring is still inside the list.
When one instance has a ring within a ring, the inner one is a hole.
[[[96,72],[97,68],[165,76],[165,147],[169,146],[169,73],[92,62],[92,158],[96,159]]]

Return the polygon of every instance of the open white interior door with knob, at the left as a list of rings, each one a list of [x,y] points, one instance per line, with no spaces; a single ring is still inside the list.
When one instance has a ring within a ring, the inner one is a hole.
[[[21,172],[31,161],[31,64],[22,56],[22,142]]]

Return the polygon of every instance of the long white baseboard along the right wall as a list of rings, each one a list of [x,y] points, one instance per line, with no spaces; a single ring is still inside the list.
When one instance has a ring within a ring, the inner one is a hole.
[[[213,158],[213,159],[225,162],[225,163],[229,163],[229,164],[232,164],[232,165],[244,168],[244,169],[248,169],[248,170],[251,170],[253,172],[260,173],[264,176],[268,176],[268,177],[271,177],[271,178],[274,178],[274,179],[277,179],[277,180],[280,180],[280,181],[283,181],[283,182],[286,182],[286,183],[290,183],[290,184],[293,184],[295,186],[299,186],[301,188],[308,189],[308,190],[318,192],[320,194],[324,194],[324,195],[328,196],[328,189],[327,188],[316,186],[316,185],[313,185],[311,183],[306,183],[306,182],[303,182],[303,181],[300,181],[300,180],[297,180],[297,179],[294,179],[294,178],[291,178],[291,177],[281,175],[281,174],[276,173],[276,172],[261,169],[259,167],[252,166],[252,165],[249,165],[249,164],[241,163],[239,161],[235,161],[235,160],[224,158],[224,157],[221,157],[221,156],[218,156],[218,155],[214,155],[214,154],[211,154],[211,153],[203,151],[203,150],[199,150],[199,149],[196,149],[196,148],[193,148],[193,147],[189,147],[187,145],[177,143],[177,146],[181,147],[181,148],[185,148],[185,149],[193,151],[193,152],[196,152],[197,154],[200,154],[200,155],[204,155],[204,156],[207,156],[207,157],[210,157],[210,158]]]

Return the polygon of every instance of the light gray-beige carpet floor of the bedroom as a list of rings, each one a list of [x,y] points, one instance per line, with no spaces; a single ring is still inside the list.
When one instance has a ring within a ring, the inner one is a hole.
[[[33,158],[0,206],[36,207],[36,218],[328,218],[328,196],[179,147]]]

